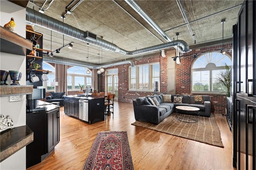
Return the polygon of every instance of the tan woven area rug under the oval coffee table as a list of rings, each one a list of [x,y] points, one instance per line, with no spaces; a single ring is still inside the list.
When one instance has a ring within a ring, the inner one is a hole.
[[[211,114],[211,117],[200,117],[197,123],[181,122],[176,119],[176,113],[173,113],[158,125],[142,121],[136,121],[132,125],[196,140],[213,146],[224,147],[220,136],[220,129],[214,119],[214,114]]]

